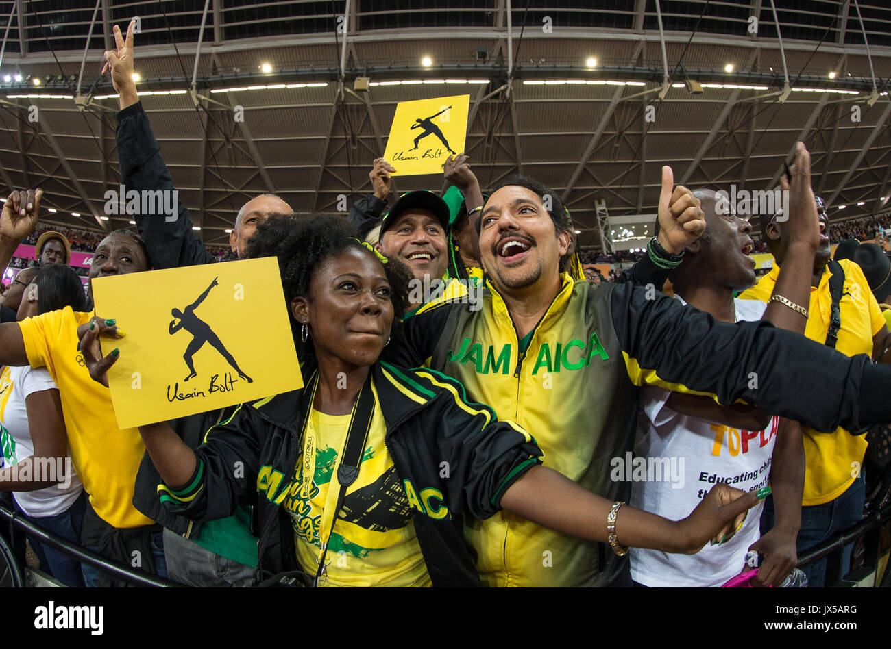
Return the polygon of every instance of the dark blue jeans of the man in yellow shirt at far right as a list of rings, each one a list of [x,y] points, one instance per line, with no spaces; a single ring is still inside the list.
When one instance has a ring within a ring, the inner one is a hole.
[[[866,499],[866,483],[863,475],[859,475],[854,483],[835,500],[801,508],[801,529],[798,531],[797,551],[798,555],[805,550],[813,548],[826,539],[846,530],[854,523],[859,523],[863,517],[863,502]],[[764,514],[761,517],[762,535],[773,527],[773,500],[769,497],[764,502]],[[848,543],[842,550],[841,576],[842,578],[851,570],[851,552],[854,542]],[[826,560],[829,557],[819,559],[813,564],[802,566],[801,570],[807,575],[808,586],[823,588],[826,585]]]

